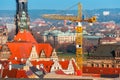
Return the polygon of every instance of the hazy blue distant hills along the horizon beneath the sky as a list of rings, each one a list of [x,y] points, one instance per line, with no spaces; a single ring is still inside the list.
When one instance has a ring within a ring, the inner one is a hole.
[[[110,14],[107,16],[103,15],[104,11],[108,11]],[[14,17],[16,11],[15,10],[0,10],[0,17]],[[31,20],[36,18],[41,18],[43,14],[73,14],[77,15],[77,10],[29,10],[29,15]],[[120,8],[115,9],[95,9],[95,10],[84,10],[83,14],[85,17],[90,17],[93,15],[98,16],[98,21],[115,21],[120,24]]]

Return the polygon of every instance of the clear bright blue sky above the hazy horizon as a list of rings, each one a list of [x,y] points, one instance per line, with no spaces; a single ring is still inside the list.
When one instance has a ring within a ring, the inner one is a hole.
[[[120,8],[120,0],[28,0],[28,8],[65,10],[78,2],[83,9]],[[0,10],[16,10],[15,0],[0,0]]]

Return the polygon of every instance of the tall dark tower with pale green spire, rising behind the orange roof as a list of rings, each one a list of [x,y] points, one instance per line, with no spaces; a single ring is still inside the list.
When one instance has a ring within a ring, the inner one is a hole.
[[[28,2],[27,0],[16,0],[16,16],[15,16],[15,25],[16,25],[16,34],[20,30],[29,30],[30,18],[28,16]]]

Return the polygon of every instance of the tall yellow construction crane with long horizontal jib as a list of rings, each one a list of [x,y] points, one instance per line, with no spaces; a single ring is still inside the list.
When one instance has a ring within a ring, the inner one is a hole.
[[[96,22],[96,17],[93,16],[92,18],[86,18],[82,19],[82,5],[78,3],[78,16],[63,16],[63,15],[57,15],[57,14],[45,14],[42,16],[43,18],[48,19],[56,19],[56,20],[69,20],[72,22],[78,22],[78,25],[76,26],[76,63],[78,65],[78,69],[82,71],[83,66],[83,48],[82,48],[82,25],[81,22],[89,22],[93,23]]]

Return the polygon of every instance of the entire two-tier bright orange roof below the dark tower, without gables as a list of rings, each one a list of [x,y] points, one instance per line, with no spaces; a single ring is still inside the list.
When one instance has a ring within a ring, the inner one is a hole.
[[[18,59],[29,58],[32,46],[36,46],[39,56],[41,51],[44,50],[46,57],[50,57],[53,50],[50,44],[38,44],[32,34],[26,30],[19,32],[14,38],[14,42],[8,42],[7,45],[12,53],[10,59],[15,57]]]

